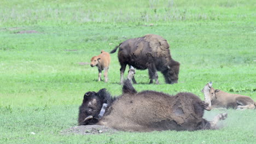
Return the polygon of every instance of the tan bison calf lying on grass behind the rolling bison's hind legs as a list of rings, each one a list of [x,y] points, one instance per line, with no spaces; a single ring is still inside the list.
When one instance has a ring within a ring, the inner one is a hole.
[[[231,94],[210,87],[212,107],[224,107],[231,109],[255,109],[256,102],[245,95]]]

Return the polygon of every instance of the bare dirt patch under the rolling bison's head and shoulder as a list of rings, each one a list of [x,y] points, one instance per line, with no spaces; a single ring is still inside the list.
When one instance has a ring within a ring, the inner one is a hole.
[[[113,134],[118,130],[103,126],[103,125],[80,125],[66,130],[60,131],[61,134],[79,134],[79,135],[93,135],[93,134]]]

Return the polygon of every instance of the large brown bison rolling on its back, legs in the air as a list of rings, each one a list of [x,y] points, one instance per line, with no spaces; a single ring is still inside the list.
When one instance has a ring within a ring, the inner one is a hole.
[[[204,110],[211,110],[208,101],[211,83],[204,88],[205,101],[193,93],[174,96],[155,91],[137,92],[126,80],[123,94],[112,98],[106,89],[86,92],[79,107],[78,125],[99,124],[123,131],[200,130],[214,129],[219,120],[227,117],[220,113],[208,122]]]

